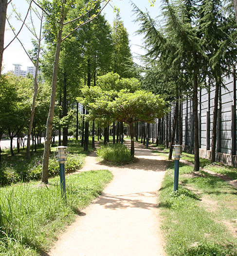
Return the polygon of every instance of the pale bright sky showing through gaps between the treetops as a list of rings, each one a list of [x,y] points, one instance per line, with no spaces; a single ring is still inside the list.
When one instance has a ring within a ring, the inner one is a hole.
[[[16,4],[16,8],[18,12],[22,14],[22,17],[27,12],[28,4],[24,0],[13,0],[13,3]],[[156,18],[160,14],[160,0],[156,0],[154,7],[150,6],[148,0],[133,0],[133,2],[140,8],[142,11],[147,11],[150,13],[152,18]],[[139,29],[139,24],[134,23],[133,20],[136,18],[135,15],[132,13],[132,6],[129,0],[113,0],[112,4],[119,8],[120,16],[124,22],[124,26],[128,31],[129,40],[130,40],[130,49],[133,56],[137,54],[143,54],[143,50],[140,47],[142,45],[142,36],[136,36],[135,32]],[[10,6],[11,7],[11,6]],[[10,14],[11,8],[8,8],[8,14]],[[113,9],[110,5],[107,5],[104,9],[104,14],[106,19],[109,21],[109,24],[112,25],[113,19],[115,18],[116,14],[113,12]],[[28,20],[29,22],[29,20]],[[36,24],[36,29],[39,32],[40,23],[37,18],[34,18],[34,22]],[[17,21],[16,18],[11,18],[11,24],[14,26],[16,31],[21,26],[21,22]],[[9,29],[8,24],[6,23],[6,31],[4,37],[4,45],[6,46],[14,37],[13,32]],[[24,44],[27,50],[33,48],[31,43],[32,34],[28,31],[28,29],[23,28],[19,34],[19,38]],[[134,59],[135,62],[138,63],[138,60]],[[15,39],[10,46],[6,48],[3,53],[3,72],[7,72],[9,70],[14,69],[13,64],[20,64],[21,70],[26,70],[28,66],[33,66],[32,62],[24,52],[22,46]]]

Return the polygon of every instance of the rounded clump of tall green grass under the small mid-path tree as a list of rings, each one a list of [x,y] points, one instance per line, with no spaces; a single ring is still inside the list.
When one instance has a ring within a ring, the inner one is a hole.
[[[101,146],[96,153],[99,158],[111,163],[125,164],[132,160],[128,147],[119,143]]]

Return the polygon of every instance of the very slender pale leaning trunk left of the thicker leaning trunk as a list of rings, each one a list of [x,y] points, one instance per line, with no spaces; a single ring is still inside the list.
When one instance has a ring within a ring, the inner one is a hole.
[[[39,39],[38,39],[38,52],[37,52],[37,59],[36,59],[36,74],[35,74],[35,81],[34,81],[34,96],[33,96],[32,108],[31,108],[31,119],[30,119],[29,128],[28,128],[28,137],[27,137],[26,159],[28,159],[28,160],[30,160],[31,130],[32,130],[34,115],[35,115],[36,96],[37,96],[37,93],[38,93],[37,74],[38,74],[38,64],[39,64],[42,23],[43,23],[43,13],[42,13],[42,19],[41,19],[41,22],[40,22],[40,31],[39,31]]]

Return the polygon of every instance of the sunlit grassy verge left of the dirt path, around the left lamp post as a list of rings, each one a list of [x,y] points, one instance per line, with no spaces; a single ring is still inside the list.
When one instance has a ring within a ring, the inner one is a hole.
[[[80,209],[91,203],[112,179],[107,170],[66,176],[67,203],[59,177],[0,188],[0,256],[38,256],[48,251],[57,234]]]

